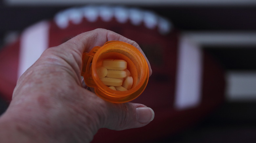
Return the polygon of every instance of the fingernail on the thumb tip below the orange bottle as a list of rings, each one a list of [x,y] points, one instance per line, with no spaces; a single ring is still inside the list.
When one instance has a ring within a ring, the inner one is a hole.
[[[137,120],[140,123],[148,123],[151,122],[154,117],[154,111],[149,107],[138,107],[136,108]]]

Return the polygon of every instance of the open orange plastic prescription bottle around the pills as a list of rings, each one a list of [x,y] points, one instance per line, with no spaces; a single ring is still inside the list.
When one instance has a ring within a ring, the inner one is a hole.
[[[96,95],[112,103],[125,103],[137,98],[145,89],[149,78],[146,59],[131,44],[122,41],[108,41],[103,46],[94,47],[89,53],[83,53],[81,76],[88,87],[93,87]],[[115,91],[104,85],[97,75],[97,68],[105,59],[122,59],[133,77],[132,88],[127,91]]]

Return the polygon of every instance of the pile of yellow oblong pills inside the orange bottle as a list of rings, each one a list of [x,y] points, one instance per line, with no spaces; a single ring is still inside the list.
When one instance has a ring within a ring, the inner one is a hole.
[[[109,88],[117,91],[131,89],[133,78],[127,70],[127,62],[121,59],[105,59],[101,67],[97,68],[100,80]]]

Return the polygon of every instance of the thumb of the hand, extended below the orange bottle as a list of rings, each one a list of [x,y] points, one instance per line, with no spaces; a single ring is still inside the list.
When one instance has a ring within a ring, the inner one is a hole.
[[[112,130],[139,128],[150,123],[154,116],[154,111],[143,104],[112,104],[110,114],[105,120],[105,127]]]

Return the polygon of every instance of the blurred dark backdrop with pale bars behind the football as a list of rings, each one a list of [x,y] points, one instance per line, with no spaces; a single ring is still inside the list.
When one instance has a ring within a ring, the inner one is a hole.
[[[255,0],[0,0],[0,50],[15,41],[30,25],[52,19],[67,8],[88,4],[122,5],[154,11],[170,20],[172,29],[178,31],[178,47],[189,39],[196,49],[211,56],[224,71],[222,102],[193,124],[147,142],[256,142]],[[220,85],[214,83],[210,86]],[[181,106],[176,103],[176,107]],[[8,101],[1,99],[0,113],[7,107]]]

